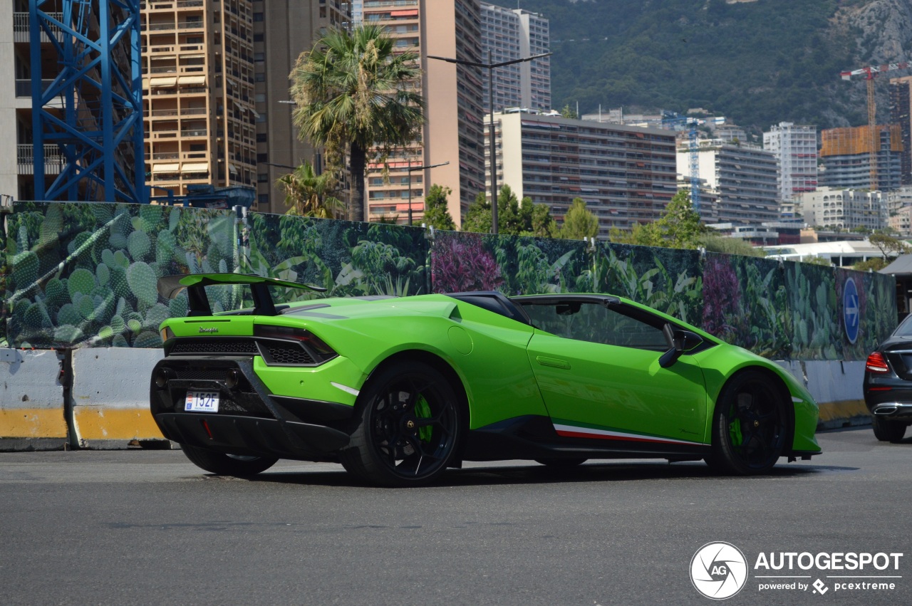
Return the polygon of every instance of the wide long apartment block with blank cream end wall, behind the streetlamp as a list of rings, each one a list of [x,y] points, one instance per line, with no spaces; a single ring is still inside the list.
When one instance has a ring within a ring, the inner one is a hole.
[[[558,222],[586,200],[603,240],[612,227],[657,220],[678,190],[668,130],[508,111],[494,114],[494,136],[499,185],[546,204]]]

